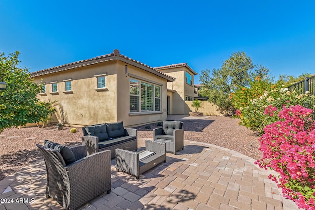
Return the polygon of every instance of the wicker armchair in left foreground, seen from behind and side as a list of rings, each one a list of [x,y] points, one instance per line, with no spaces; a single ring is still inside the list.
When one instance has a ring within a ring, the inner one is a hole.
[[[66,165],[58,150],[37,144],[47,171],[46,197],[64,209],[75,209],[103,192],[111,191],[110,151],[87,156],[85,145],[72,147],[75,162]]]

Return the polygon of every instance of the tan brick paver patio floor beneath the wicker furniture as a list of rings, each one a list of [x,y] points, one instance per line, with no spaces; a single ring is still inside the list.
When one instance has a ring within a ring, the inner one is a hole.
[[[141,149],[144,142],[138,140]],[[186,140],[184,144],[184,150],[168,153],[166,163],[145,172],[139,180],[116,172],[112,159],[111,193],[96,197],[79,210],[298,209],[267,178],[270,172],[254,165],[252,158],[211,144]],[[0,181],[0,210],[63,209],[46,199],[45,187],[45,163],[40,160]]]

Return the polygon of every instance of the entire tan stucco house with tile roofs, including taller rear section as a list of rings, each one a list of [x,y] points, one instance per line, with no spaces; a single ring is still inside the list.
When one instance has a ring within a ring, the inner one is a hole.
[[[180,72],[177,78],[174,69]],[[192,77],[186,78],[184,72]],[[104,56],[36,71],[31,77],[44,84],[40,100],[58,101],[56,122],[84,126],[123,121],[125,127],[130,127],[165,120],[167,112],[185,113],[184,105],[176,105],[180,103],[177,94],[182,104],[186,96],[193,97],[195,74],[186,63],[152,68],[114,50]],[[174,83],[176,80],[182,86]],[[177,87],[178,91],[174,89]]]

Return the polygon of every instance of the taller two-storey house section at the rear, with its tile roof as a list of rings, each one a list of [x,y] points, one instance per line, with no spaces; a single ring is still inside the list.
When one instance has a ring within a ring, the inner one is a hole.
[[[154,69],[176,78],[175,81],[167,82],[167,114],[189,115],[191,109],[186,101],[194,99],[193,81],[197,73],[187,63],[160,66]]]

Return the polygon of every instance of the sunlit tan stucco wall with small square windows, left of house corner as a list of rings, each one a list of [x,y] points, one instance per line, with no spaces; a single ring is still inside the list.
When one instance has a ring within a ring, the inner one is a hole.
[[[43,101],[57,100],[66,114],[69,124],[90,125],[103,122],[114,122],[116,115],[116,61],[80,67],[63,72],[36,77],[35,82],[46,83],[46,96],[39,96]],[[96,91],[97,78],[95,75],[107,73],[105,76],[105,87],[108,91]],[[71,90],[73,94],[65,94],[65,82],[72,79]],[[58,94],[51,94],[51,82],[58,81]],[[110,101],[111,103],[104,103]],[[59,107],[57,116],[60,116]],[[58,119],[58,121],[61,121]]]

